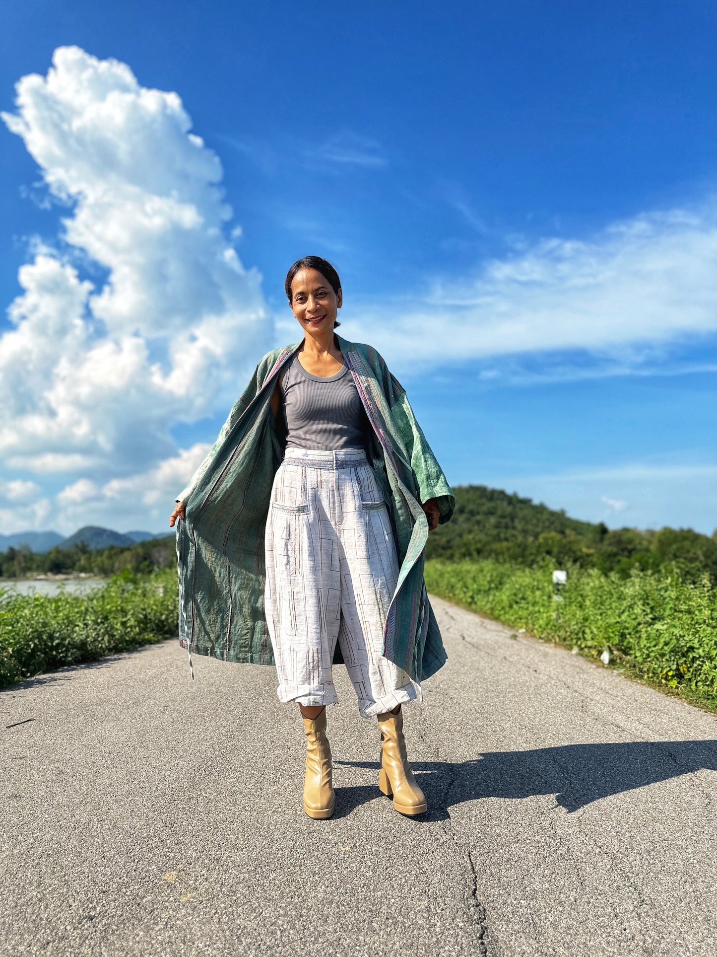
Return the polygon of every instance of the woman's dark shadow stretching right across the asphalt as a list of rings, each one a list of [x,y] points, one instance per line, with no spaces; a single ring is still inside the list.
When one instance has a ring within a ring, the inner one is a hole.
[[[334,763],[379,768],[376,761]],[[717,741],[632,741],[489,751],[469,761],[412,761],[411,767],[431,809],[421,820],[441,820],[449,808],[465,801],[535,794],[555,794],[556,807],[574,812],[610,794],[644,788],[702,768],[717,770]],[[374,799],[376,791],[375,786],[338,788],[337,812],[350,813]]]

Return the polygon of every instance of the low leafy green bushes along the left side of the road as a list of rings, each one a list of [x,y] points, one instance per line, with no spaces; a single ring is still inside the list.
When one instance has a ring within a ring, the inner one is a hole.
[[[125,569],[86,596],[0,593],[0,686],[177,634],[177,573]]]

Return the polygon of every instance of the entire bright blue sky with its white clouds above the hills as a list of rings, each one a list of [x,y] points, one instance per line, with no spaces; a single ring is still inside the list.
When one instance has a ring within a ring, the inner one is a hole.
[[[6,10],[0,530],[160,530],[316,253],[453,483],[711,533],[716,28],[684,2]]]

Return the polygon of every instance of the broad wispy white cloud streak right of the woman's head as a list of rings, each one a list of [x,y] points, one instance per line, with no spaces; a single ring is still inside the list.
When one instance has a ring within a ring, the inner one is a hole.
[[[515,244],[474,275],[435,276],[423,295],[357,312],[349,338],[403,367],[569,351],[640,366],[644,353],[717,332],[717,207]]]

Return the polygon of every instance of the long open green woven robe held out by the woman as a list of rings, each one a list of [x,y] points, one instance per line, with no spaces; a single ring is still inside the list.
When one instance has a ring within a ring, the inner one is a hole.
[[[445,662],[425,591],[428,523],[421,502],[438,500],[444,523],[455,500],[405,390],[376,349],[340,336],[337,343],[372,426],[367,455],[388,504],[401,563],[383,655],[421,681]],[[299,345],[264,356],[177,498],[186,505],[185,521],[177,525],[180,644],[190,653],[273,664],[264,614],[264,527],[283,449],[270,403],[276,375]]]

